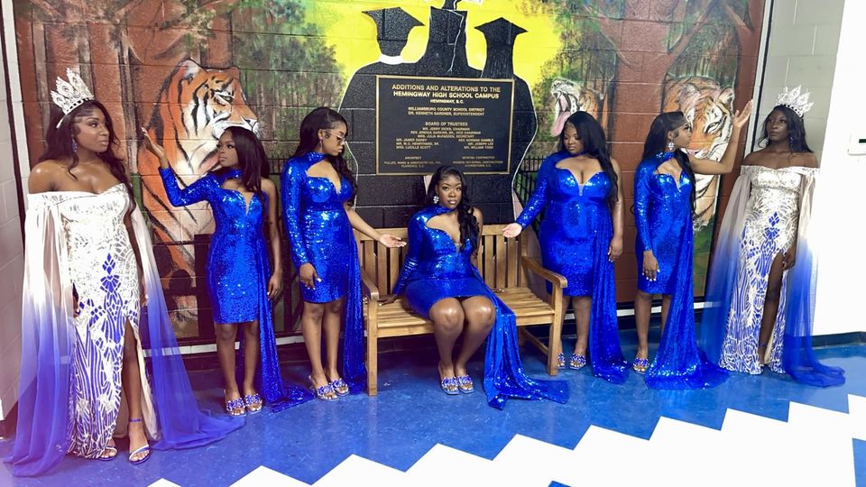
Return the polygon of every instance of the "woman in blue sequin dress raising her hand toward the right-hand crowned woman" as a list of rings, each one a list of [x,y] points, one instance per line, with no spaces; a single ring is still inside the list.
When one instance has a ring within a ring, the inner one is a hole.
[[[698,159],[682,151],[691,127],[682,112],[656,116],[643,146],[643,161],[634,176],[634,219],[637,226],[638,292],[635,322],[638,353],[633,368],[646,372],[653,389],[700,389],[722,383],[727,374],[708,363],[695,335],[692,255],[695,173],[731,172],[740,131],[749,120],[751,101],[732,120],[731,140],[722,161]],[[649,363],[647,335],[652,295],[662,295],[662,335]]]

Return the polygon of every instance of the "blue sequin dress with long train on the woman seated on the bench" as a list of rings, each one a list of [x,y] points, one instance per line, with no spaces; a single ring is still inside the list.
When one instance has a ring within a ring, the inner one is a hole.
[[[403,261],[394,294],[403,294],[419,315],[429,316],[430,307],[440,299],[485,296],[496,308],[496,321],[487,336],[484,358],[484,392],[487,403],[502,409],[508,398],[568,400],[566,381],[536,381],[523,372],[517,345],[514,313],[487,287],[472,264],[472,239],[458,249],[447,232],[430,228],[433,216],[451,210],[433,205],[412,216],[409,222],[409,253]]]

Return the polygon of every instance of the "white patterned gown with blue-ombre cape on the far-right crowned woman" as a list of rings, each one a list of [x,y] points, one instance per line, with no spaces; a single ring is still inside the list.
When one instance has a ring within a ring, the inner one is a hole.
[[[742,166],[716,240],[699,338],[724,368],[759,374],[767,364],[798,382],[844,383],[844,371],[818,362],[812,350],[817,255],[810,245],[812,195],[818,170]],[[796,250],[782,272],[778,312],[764,356],[760,322],[773,260]]]

